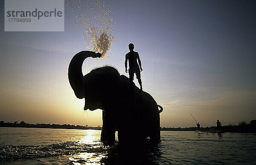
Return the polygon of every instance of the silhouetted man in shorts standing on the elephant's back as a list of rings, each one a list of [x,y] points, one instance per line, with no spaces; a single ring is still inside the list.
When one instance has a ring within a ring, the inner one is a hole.
[[[129,50],[125,55],[125,72],[127,73],[127,61],[129,60],[129,79],[130,81],[134,80],[134,73],[136,74],[136,78],[139,81],[140,84],[140,90],[142,90],[142,83],[141,83],[141,78],[140,78],[140,72],[142,71],[141,67],[141,61],[140,61],[140,56],[138,52],[134,52],[134,44],[129,43]],[[138,64],[138,62],[139,64]],[[139,67],[140,65],[140,67]]]

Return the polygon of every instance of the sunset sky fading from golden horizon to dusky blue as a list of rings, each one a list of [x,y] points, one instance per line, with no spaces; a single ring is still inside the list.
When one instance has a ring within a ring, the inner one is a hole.
[[[128,44],[142,61],[143,90],[163,106],[162,127],[212,126],[256,119],[256,1],[106,0],[113,41],[107,59],[86,59],[83,73],[110,64],[125,73]],[[0,1],[0,120],[102,125],[84,111],[67,78],[87,49],[73,14],[64,32],[4,32]],[[137,79],[134,81],[139,87]]]

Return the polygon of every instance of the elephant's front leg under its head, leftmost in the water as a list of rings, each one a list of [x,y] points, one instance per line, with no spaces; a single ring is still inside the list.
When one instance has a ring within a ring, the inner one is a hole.
[[[108,145],[111,145],[115,142],[115,121],[113,120],[113,116],[111,113],[102,111],[102,132],[100,140]]]

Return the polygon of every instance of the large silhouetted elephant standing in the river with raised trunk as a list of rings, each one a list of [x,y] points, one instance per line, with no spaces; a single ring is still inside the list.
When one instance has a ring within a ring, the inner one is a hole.
[[[76,97],[85,99],[84,110],[103,110],[101,141],[113,144],[117,130],[119,143],[159,142],[163,107],[114,67],[99,67],[83,75],[82,64],[89,57],[100,58],[101,53],[76,53],[68,67],[68,79]]]

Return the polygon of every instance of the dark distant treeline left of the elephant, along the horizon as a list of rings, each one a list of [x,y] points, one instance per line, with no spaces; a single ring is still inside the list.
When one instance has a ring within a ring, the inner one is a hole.
[[[90,127],[82,125],[70,125],[70,124],[29,124],[24,121],[19,122],[4,122],[0,121],[0,127],[25,127],[25,128],[55,128],[55,129],[80,129],[80,130],[101,130],[102,127]]]

